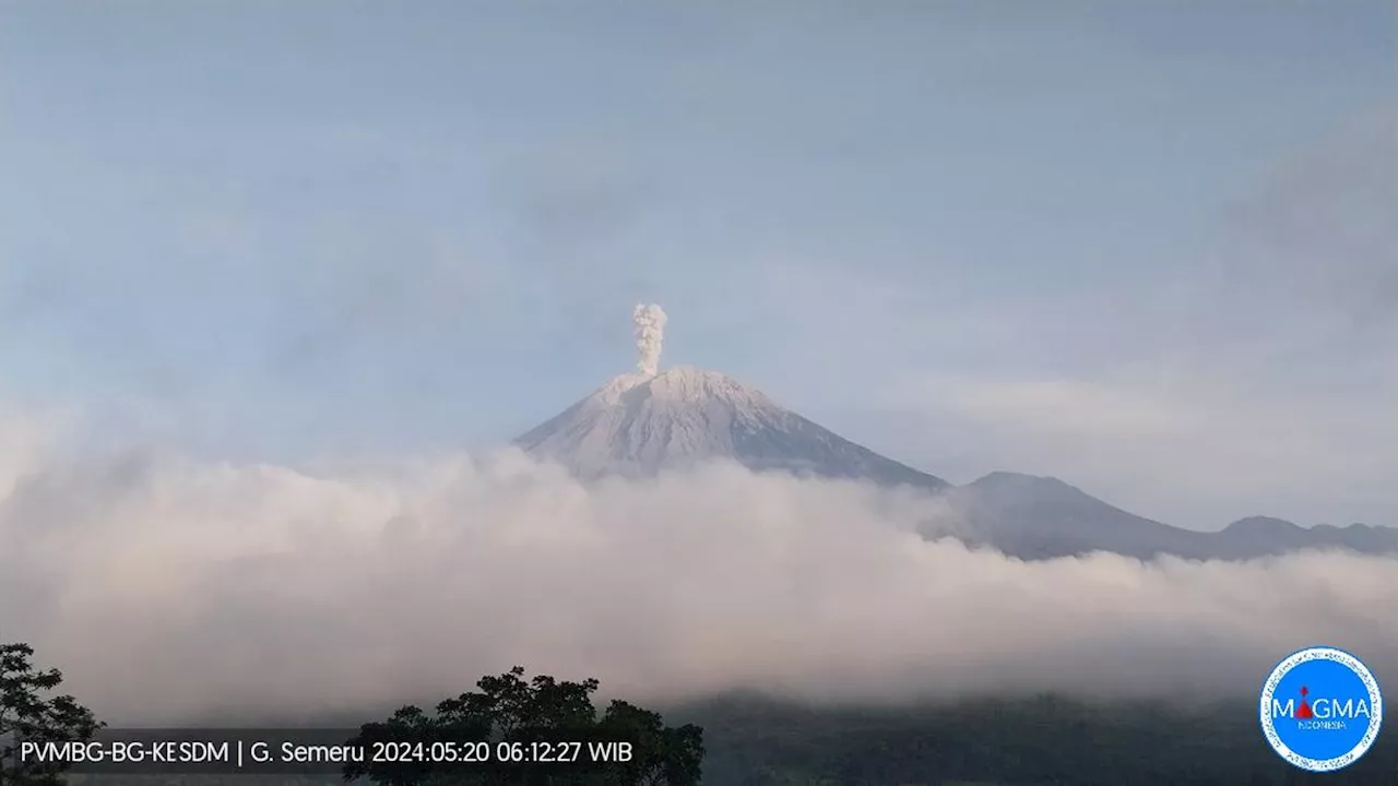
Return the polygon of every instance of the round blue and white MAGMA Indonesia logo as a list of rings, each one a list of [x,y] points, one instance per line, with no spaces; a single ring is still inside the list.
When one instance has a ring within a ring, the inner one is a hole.
[[[1378,737],[1378,681],[1345,650],[1313,646],[1286,656],[1262,684],[1262,734],[1283,759],[1310,772],[1355,764]]]

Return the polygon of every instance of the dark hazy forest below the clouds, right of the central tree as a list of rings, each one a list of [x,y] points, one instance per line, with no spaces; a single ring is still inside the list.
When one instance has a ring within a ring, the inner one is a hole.
[[[721,786],[1392,786],[1398,727],[1349,768],[1314,775],[1282,761],[1255,705],[1092,705],[1057,696],[902,709],[808,708],[726,698],[675,708],[705,729],[705,783]]]

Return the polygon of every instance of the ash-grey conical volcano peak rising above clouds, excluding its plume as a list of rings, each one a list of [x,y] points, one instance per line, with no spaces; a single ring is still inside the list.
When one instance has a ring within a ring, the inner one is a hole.
[[[579,477],[653,476],[713,459],[752,470],[948,488],[783,408],[730,376],[679,366],[628,373],[514,441]]]

